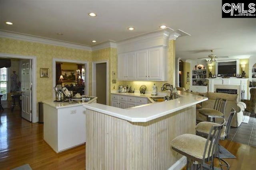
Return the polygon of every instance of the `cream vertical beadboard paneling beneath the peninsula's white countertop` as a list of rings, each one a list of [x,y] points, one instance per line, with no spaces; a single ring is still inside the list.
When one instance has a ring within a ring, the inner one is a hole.
[[[168,169],[182,155],[170,141],[195,134],[195,105],[145,123],[86,109],[86,169]]]

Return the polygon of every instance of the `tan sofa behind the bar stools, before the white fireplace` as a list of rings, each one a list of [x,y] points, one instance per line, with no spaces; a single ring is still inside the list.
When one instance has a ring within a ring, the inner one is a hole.
[[[207,93],[197,93],[197,92],[190,92],[193,94],[201,94],[204,97],[208,98],[208,100],[202,102],[201,105],[197,105],[197,109],[201,108],[214,108],[214,103],[216,98],[224,98],[227,99],[226,109],[224,118],[227,120],[228,116],[230,115],[230,111],[232,107],[236,110],[236,113],[232,119],[231,126],[232,127],[239,127],[243,121],[243,111],[246,108],[246,105],[242,102],[238,102],[238,94],[226,94],[226,93],[214,93],[214,92],[207,92]],[[207,121],[206,116],[200,114],[198,110],[196,110],[196,121]],[[216,119],[216,121],[218,121]]]

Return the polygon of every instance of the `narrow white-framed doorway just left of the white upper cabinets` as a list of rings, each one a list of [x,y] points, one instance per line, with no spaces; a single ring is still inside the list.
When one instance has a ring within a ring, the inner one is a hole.
[[[92,96],[97,103],[108,105],[108,61],[92,62]]]

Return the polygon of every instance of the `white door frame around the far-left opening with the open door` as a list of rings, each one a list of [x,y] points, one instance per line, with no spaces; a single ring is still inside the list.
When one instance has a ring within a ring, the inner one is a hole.
[[[15,59],[29,59],[32,61],[32,123],[38,122],[37,117],[37,104],[36,104],[36,56],[28,56],[28,55],[16,55],[16,54],[6,54],[0,53],[0,57],[2,58],[15,58]],[[35,84],[35,85],[34,85]]]

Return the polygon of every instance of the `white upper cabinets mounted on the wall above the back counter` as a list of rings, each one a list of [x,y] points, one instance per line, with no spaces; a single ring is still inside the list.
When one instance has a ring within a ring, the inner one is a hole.
[[[157,47],[118,55],[118,79],[165,81],[167,61],[163,50]]]

